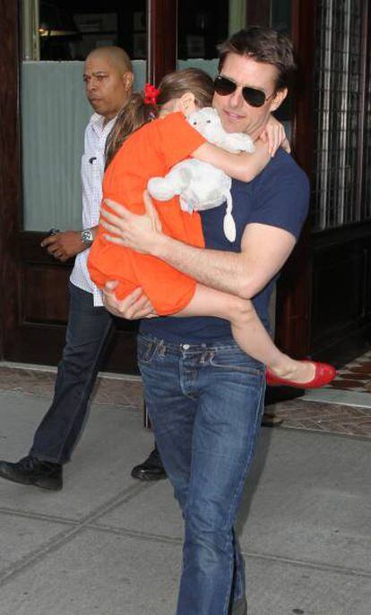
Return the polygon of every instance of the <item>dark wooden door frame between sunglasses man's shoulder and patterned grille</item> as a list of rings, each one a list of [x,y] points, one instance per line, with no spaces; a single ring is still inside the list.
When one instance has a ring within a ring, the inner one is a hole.
[[[291,38],[298,59],[291,142],[298,164],[309,179],[314,165],[313,77],[316,0],[291,0]],[[294,356],[306,356],[312,302],[311,225],[309,219],[287,262],[277,288],[276,342]]]

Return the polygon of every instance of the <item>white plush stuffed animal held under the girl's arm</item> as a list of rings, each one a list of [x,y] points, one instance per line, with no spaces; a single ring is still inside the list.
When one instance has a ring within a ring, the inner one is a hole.
[[[255,151],[252,139],[242,132],[226,132],[216,109],[203,107],[188,117],[188,122],[210,143],[228,151]],[[175,135],[176,138],[176,135]],[[148,191],[158,201],[179,196],[180,207],[192,213],[218,207],[227,201],[223,229],[229,242],[236,239],[236,224],[232,216],[231,179],[207,162],[187,158],[177,163],[165,177],[152,177]]]

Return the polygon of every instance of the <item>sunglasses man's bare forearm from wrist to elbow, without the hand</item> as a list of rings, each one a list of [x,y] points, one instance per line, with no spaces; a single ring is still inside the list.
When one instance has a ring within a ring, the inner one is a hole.
[[[204,286],[243,295],[246,268],[241,253],[194,248],[168,235],[158,235],[151,253]]]

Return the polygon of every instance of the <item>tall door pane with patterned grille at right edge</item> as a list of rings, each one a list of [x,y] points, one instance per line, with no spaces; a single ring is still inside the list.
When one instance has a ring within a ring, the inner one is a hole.
[[[317,4],[316,231],[371,218],[366,9],[363,0]]]

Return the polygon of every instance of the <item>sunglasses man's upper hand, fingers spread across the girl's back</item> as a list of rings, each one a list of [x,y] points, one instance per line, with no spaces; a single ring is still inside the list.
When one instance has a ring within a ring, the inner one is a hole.
[[[135,252],[151,254],[153,247],[162,235],[160,218],[147,191],[143,192],[146,213],[142,216],[132,213],[124,205],[106,199],[113,212],[100,209],[100,224],[112,235],[104,235],[111,243],[124,245]],[[116,236],[113,236],[116,235]]]

